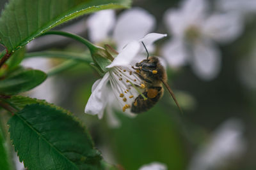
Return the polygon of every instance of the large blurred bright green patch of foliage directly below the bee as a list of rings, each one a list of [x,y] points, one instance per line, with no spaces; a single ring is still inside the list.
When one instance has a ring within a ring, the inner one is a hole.
[[[162,162],[168,169],[186,169],[184,146],[171,116],[177,108],[162,102],[134,119],[118,114],[122,126],[109,132],[108,138],[125,169],[138,169],[150,162]]]

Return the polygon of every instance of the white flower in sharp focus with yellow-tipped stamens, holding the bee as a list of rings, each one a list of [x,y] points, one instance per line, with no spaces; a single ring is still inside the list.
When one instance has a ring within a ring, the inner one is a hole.
[[[141,87],[141,84],[143,84],[138,75],[134,74],[130,63],[141,50],[144,50],[141,41],[147,46],[164,36],[166,34],[151,33],[140,39],[140,41],[131,41],[127,44],[113,62],[107,66],[109,71],[102,79],[93,84],[92,95],[86,104],[84,112],[98,115],[99,118],[102,118],[104,109],[108,104],[109,92],[113,92],[118,104],[120,104],[120,108],[129,113],[132,102],[138,96],[138,90],[134,89],[133,86]],[[110,83],[112,90],[108,89],[108,83]]]

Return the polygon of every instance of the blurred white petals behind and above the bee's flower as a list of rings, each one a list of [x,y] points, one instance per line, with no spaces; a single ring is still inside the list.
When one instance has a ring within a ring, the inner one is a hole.
[[[152,32],[156,19],[142,8],[126,10],[116,20],[115,11],[103,10],[92,14],[87,21],[88,36],[93,43],[113,41],[120,51],[134,39]]]

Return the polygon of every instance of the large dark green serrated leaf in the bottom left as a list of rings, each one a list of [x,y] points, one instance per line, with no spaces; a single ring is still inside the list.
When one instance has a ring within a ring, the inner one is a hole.
[[[8,124],[15,151],[28,169],[102,169],[88,132],[66,110],[41,101],[26,105]]]

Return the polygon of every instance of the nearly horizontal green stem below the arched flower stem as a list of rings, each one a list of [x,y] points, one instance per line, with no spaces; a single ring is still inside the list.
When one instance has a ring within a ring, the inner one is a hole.
[[[47,57],[47,58],[61,58],[61,59],[72,59],[77,60],[78,62],[86,62],[90,64],[92,62],[91,58],[87,54],[81,53],[72,53],[72,52],[31,52],[26,53],[25,58],[31,57]]]

